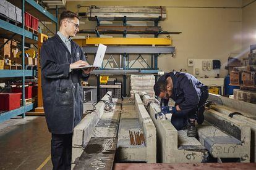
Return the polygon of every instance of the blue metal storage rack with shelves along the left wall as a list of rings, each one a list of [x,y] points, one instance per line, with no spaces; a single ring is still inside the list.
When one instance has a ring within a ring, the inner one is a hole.
[[[29,11],[30,14],[36,16],[39,20],[43,21],[51,21],[56,24],[56,31],[58,30],[58,8],[56,7],[56,16],[50,14],[47,10],[41,7],[33,0],[7,0],[11,2],[15,6],[22,9],[22,27],[13,25],[5,20],[0,19],[0,36],[1,38],[6,38],[9,40],[15,39],[22,43],[22,51],[24,51],[24,46],[26,44],[37,44],[38,36],[33,34],[30,31],[24,29],[24,13],[25,11]],[[6,121],[7,119],[13,118],[14,116],[21,115],[22,118],[25,117],[25,113],[29,110],[33,109],[33,103],[25,105],[25,77],[27,76],[35,76],[35,70],[24,70],[25,62],[24,62],[24,54],[22,52],[22,68],[23,70],[0,70],[0,78],[14,78],[20,77],[22,78],[22,107],[17,108],[15,110],[6,111],[4,113],[0,113],[0,123],[2,121]]]

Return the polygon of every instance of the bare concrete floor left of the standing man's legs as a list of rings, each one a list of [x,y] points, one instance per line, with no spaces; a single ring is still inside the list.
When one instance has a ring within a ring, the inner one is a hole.
[[[52,169],[51,134],[44,116],[0,123],[0,169]]]

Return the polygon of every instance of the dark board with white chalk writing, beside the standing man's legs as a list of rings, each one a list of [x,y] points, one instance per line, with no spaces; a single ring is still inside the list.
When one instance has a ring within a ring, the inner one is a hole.
[[[92,137],[74,169],[112,169],[117,137]]]

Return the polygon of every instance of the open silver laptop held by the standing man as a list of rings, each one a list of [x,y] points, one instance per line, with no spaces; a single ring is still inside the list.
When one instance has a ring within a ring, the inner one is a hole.
[[[90,68],[90,67],[101,67],[101,64],[102,64],[103,59],[104,59],[105,52],[106,52],[106,46],[104,46],[103,44],[99,44],[99,47],[98,47],[98,50],[97,50],[96,57],[95,57],[95,60],[93,62],[93,65],[87,65],[87,66],[77,67],[77,68],[73,68],[73,69]]]

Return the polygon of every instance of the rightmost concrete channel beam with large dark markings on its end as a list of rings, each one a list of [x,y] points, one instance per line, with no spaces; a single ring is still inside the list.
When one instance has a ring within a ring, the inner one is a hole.
[[[208,137],[205,145],[210,145],[207,148],[211,147],[210,152],[215,153],[213,156],[240,158],[241,162],[250,162],[250,126],[211,109],[206,110],[204,115],[208,123],[229,134],[229,137],[218,137],[213,132],[215,138]],[[210,135],[209,132],[207,134]],[[216,151],[213,152],[214,149]]]

